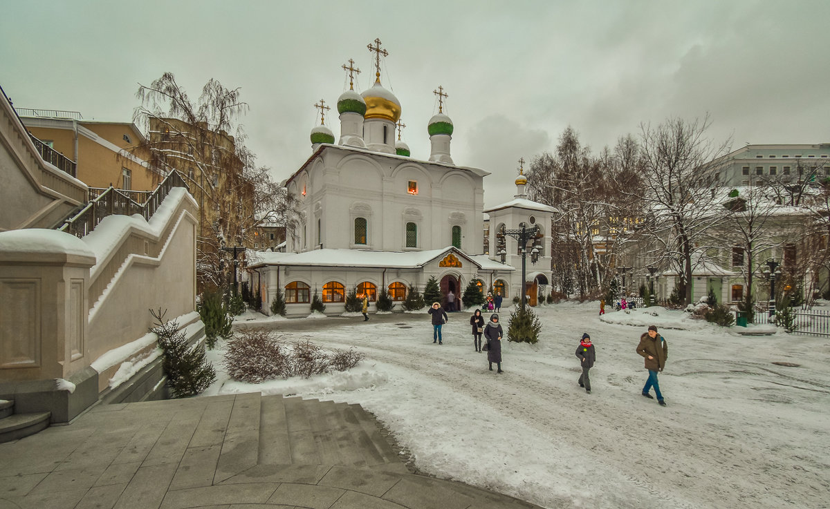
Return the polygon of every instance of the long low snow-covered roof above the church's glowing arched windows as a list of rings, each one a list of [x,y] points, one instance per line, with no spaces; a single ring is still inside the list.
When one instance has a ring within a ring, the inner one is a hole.
[[[420,269],[434,259],[452,252],[462,259],[469,260],[481,269],[514,270],[510,265],[502,265],[487,258],[486,255],[470,256],[450,246],[440,250],[428,251],[373,251],[324,249],[305,251],[305,253],[252,253],[248,260],[249,267],[261,265],[292,265],[313,267],[378,267],[388,269]]]

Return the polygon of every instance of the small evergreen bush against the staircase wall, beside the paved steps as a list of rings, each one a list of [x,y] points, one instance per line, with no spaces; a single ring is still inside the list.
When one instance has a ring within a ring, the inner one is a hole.
[[[156,319],[150,332],[159,337],[159,347],[163,351],[162,369],[167,376],[170,395],[173,398],[198,395],[216,380],[216,371],[207,361],[204,348],[191,347],[184,332],[178,330],[178,323],[164,320],[167,312],[151,309],[150,313]]]

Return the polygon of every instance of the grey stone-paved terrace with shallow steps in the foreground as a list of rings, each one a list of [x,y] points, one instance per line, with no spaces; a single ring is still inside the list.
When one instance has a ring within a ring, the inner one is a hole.
[[[409,473],[359,405],[259,393],[97,405],[0,444],[0,509],[537,507]]]

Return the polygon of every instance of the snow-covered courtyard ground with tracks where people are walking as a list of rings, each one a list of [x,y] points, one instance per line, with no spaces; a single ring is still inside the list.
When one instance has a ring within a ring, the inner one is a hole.
[[[505,341],[503,375],[473,351],[468,313],[451,313],[443,346],[432,344],[426,313],[243,319],[287,340],[354,345],[367,359],[349,373],[261,385],[227,381],[220,368],[206,394],[359,403],[422,471],[544,507],[828,507],[830,340],[745,337],[657,310],[600,322],[597,303],[537,308],[540,343]],[[640,395],[646,371],[634,349],[650,322],[669,345],[665,408]],[[582,332],[597,349],[590,395],[577,385]]]

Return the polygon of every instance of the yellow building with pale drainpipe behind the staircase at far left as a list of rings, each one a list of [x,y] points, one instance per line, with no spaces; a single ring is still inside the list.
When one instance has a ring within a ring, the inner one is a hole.
[[[17,109],[35,138],[77,164],[89,187],[153,191],[164,173],[140,157],[144,136],[131,122],[85,120],[71,111]]]

